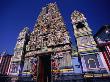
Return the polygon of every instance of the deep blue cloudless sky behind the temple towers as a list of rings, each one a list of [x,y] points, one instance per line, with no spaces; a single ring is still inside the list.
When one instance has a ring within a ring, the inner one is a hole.
[[[50,2],[57,3],[73,44],[70,16],[74,10],[85,14],[93,34],[110,24],[110,0],[0,0],[0,52],[13,54],[21,29],[27,26],[32,31],[41,8]]]

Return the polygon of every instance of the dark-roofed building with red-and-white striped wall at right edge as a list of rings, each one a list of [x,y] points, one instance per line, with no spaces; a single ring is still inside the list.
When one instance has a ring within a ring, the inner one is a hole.
[[[100,56],[110,73],[110,25],[103,26],[95,35],[94,39],[97,43],[97,47],[100,50]]]

